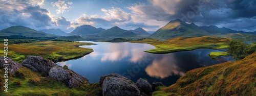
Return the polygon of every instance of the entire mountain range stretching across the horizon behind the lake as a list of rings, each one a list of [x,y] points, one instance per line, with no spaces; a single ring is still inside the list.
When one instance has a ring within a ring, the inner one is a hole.
[[[42,32],[41,32],[42,31]],[[228,28],[218,28],[216,26],[199,27],[195,23],[186,23],[180,19],[169,21],[164,27],[158,29],[153,34],[150,34],[142,28],[135,30],[123,30],[119,27],[113,27],[105,30],[95,28],[90,25],[77,27],[71,33],[65,33],[59,29],[40,30],[36,31],[23,26],[13,26],[0,31],[0,36],[20,35],[27,37],[51,37],[63,36],[64,38],[72,38],[72,36],[80,36],[79,39],[113,39],[113,38],[155,38],[155,39],[171,39],[181,36],[200,37],[200,36],[218,36],[230,37],[235,39],[256,39],[256,32],[235,31]],[[65,37],[71,36],[71,37]],[[78,38],[78,37],[76,37]]]

